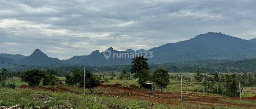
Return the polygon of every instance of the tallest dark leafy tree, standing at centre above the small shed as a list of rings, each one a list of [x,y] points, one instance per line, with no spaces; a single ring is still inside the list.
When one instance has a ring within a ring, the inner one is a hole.
[[[134,78],[139,78],[139,81],[145,79],[143,74],[148,73],[147,70],[150,69],[150,67],[147,64],[147,60],[148,59],[144,58],[143,56],[135,57],[132,59],[131,74],[134,74]],[[141,82],[139,83],[141,84]]]

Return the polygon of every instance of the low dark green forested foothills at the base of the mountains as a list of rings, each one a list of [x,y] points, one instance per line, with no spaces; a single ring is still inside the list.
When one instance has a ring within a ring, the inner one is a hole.
[[[44,67],[56,67],[52,68],[61,75],[70,73],[70,70],[79,68],[83,70],[83,65],[67,65],[67,64],[53,64],[45,65]],[[179,63],[163,63],[163,64],[150,64],[150,70],[154,71],[157,68],[165,68],[168,72],[195,72],[196,69],[200,69],[201,72],[231,72],[231,73],[243,73],[243,72],[255,72],[256,71],[256,59],[244,59],[238,61],[219,60],[219,59],[201,59]],[[34,67],[26,66],[13,66],[9,68],[14,71],[26,71],[34,69]],[[39,68],[46,70],[47,68]],[[112,65],[112,66],[86,66],[86,69],[92,72],[122,72],[126,69],[128,72],[131,69],[131,65]]]

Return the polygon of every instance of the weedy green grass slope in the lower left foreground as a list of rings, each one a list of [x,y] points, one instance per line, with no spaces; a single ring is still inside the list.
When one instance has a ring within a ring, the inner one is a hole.
[[[95,102],[94,99],[97,98]],[[105,104],[101,104],[105,102]],[[75,109],[146,109],[148,102],[133,99],[123,99],[118,97],[105,97],[99,95],[81,95],[63,92],[38,91],[32,89],[8,89],[0,88],[0,106],[23,105],[26,108],[34,105],[36,107],[58,107],[61,105]],[[169,106],[166,104],[155,104],[152,109],[180,109],[179,106]],[[184,108],[185,109],[185,108]]]

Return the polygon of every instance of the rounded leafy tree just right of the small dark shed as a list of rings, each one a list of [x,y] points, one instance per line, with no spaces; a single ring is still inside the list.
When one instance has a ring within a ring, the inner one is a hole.
[[[161,89],[166,88],[170,84],[170,76],[166,69],[158,68],[152,75],[153,82]]]

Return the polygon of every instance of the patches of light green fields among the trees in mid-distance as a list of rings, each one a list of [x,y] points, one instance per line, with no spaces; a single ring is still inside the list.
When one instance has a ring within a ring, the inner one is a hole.
[[[103,76],[104,74],[103,73],[94,73],[96,75],[101,75]],[[116,77],[114,77],[113,80],[110,80],[110,82],[108,82],[107,84],[110,84],[110,85],[113,85],[115,83],[119,83],[119,84],[122,84],[124,86],[126,85],[131,85],[131,84],[134,84],[134,85],[138,85],[138,82],[137,80],[134,80],[134,79],[129,79],[129,80],[125,80],[124,81],[121,81],[118,79],[118,77],[120,76],[120,73],[115,73],[116,74]],[[176,76],[176,75],[180,75],[182,74],[183,76],[190,76],[191,80],[193,80],[193,75],[195,73],[169,73],[169,75],[171,76]],[[203,75],[207,75],[206,73],[202,73]],[[226,74],[224,74],[226,75]],[[210,75],[209,75],[210,76]],[[111,78],[110,75],[104,75],[105,78]],[[60,81],[62,81],[64,84],[65,84],[65,80],[66,78],[65,77],[57,77]],[[22,85],[22,84],[27,84],[26,82],[22,82],[21,79],[19,77],[14,77],[12,79],[8,79],[6,80],[6,83],[14,83],[16,86],[19,86],[19,85]],[[42,85],[42,84],[40,84]],[[197,82],[186,82],[186,81],[183,81],[183,92],[184,93],[188,93],[188,94],[195,94],[195,95],[203,95],[203,96],[206,96],[206,93],[196,93],[194,91],[190,91],[190,90],[194,90],[195,88],[197,87],[200,87],[201,85],[198,84]],[[170,85],[168,85],[168,87],[164,90],[164,91],[167,91],[167,92],[180,92],[181,91],[181,82],[180,81],[175,81],[175,80],[171,80],[170,79]],[[246,87],[243,89],[243,92],[242,92],[242,97],[252,97],[252,96],[255,96],[256,95],[256,88],[253,88],[253,87]],[[209,96],[214,96],[214,94],[209,94]],[[215,95],[216,96],[216,95]],[[220,95],[222,96],[222,95]]]

